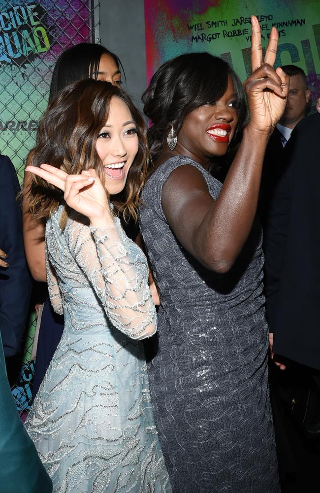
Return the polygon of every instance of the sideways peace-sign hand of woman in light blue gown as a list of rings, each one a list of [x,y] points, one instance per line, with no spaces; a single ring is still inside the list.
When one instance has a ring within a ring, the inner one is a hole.
[[[87,216],[91,224],[97,225],[105,217],[112,218],[107,191],[94,169],[82,171],[81,175],[68,175],[54,166],[41,164],[40,168],[27,166],[26,171],[60,188],[66,204]]]

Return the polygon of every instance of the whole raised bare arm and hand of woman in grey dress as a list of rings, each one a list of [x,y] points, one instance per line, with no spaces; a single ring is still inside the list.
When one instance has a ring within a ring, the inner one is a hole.
[[[219,273],[232,267],[252,228],[264,151],[286,104],[288,77],[272,68],[277,43],[274,29],[263,64],[259,25],[253,19],[253,73],[245,83],[251,117],[218,199],[212,199],[192,166],[174,170],[162,189],[162,208],[179,241]]]

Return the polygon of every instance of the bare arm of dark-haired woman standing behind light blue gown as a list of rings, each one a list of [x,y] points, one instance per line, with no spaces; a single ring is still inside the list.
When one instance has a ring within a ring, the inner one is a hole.
[[[33,279],[35,281],[47,282],[44,246],[45,225],[42,221],[34,219],[29,209],[28,189],[31,179],[31,173],[25,173],[22,202],[25,252]]]

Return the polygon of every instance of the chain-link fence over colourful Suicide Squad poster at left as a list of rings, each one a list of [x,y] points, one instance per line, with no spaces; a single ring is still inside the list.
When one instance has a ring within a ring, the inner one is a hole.
[[[99,42],[98,0],[0,0],[0,153],[13,162],[20,184],[55,62],[82,42]],[[21,374],[12,388],[22,418],[31,400],[35,325],[32,312]]]

